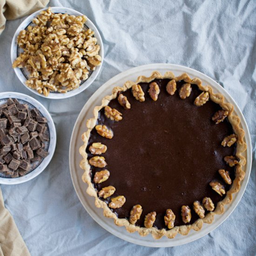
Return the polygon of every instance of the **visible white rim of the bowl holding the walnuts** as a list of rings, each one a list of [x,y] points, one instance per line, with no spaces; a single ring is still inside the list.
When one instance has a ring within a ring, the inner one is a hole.
[[[20,48],[18,47],[17,44],[17,36],[20,33],[20,30],[26,29],[29,25],[31,25],[32,20],[43,10],[47,10],[48,7],[41,9],[35,13],[32,13],[31,15],[29,15],[25,20],[23,20],[23,22],[20,24],[20,26],[17,28],[14,36],[13,36],[13,40],[12,40],[12,44],[11,44],[11,61],[13,63],[13,61],[15,61],[15,59],[18,57],[19,53],[22,52],[22,50],[20,50]],[[70,8],[66,8],[66,7],[51,7],[52,8],[52,12],[53,13],[67,13],[70,15],[84,15],[83,13],[80,13],[78,11],[75,11],[73,9]],[[104,50],[103,50],[103,42],[101,40],[101,35],[98,31],[98,29],[95,27],[94,23],[89,20],[87,18],[87,21],[85,23],[85,25],[88,28],[91,28],[94,31],[94,36],[97,38],[97,44],[101,46],[99,55],[101,56],[101,65],[96,67],[96,69],[92,72],[92,74],[88,77],[88,79],[86,81],[84,81],[79,88],[76,88],[72,91],[69,91],[67,93],[50,93],[47,97],[45,97],[43,94],[38,93],[36,90],[28,88],[27,85],[25,84],[25,82],[27,81],[27,71],[24,68],[19,68],[16,67],[14,68],[15,74],[17,75],[17,77],[19,78],[20,82],[31,92],[33,92],[34,94],[37,94],[41,97],[44,98],[48,98],[48,99],[65,99],[65,98],[69,98],[72,97],[76,94],[81,93],[82,91],[84,91],[86,88],[88,88],[93,81],[96,79],[96,77],[98,76],[98,74],[101,71],[101,67],[102,67],[102,63],[103,63],[103,58],[104,58]]]

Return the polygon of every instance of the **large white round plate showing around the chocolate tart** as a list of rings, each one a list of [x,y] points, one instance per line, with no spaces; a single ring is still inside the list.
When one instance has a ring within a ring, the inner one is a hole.
[[[245,168],[245,177],[241,183],[241,189],[238,193],[233,194],[233,201],[231,204],[225,206],[225,212],[222,215],[216,215],[214,221],[211,224],[204,224],[200,231],[190,230],[187,236],[182,236],[178,234],[174,239],[168,239],[167,237],[162,237],[159,240],[155,240],[152,236],[148,235],[145,237],[139,236],[137,233],[128,233],[124,227],[118,227],[114,224],[112,219],[108,219],[103,216],[102,209],[97,209],[94,206],[94,197],[91,197],[86,193],[88,187],[87,184],[83,183],[81,180],[81,175],[83,170],[79,167],[81,161],[81,155],[79,154],[79,148],[82,145],[81,134],[87,130],[86,120],[93,117],[93,109],[95,106],[101,105],[101,100],[105,95],[111,94],[112,88],[118,85],[123,85],[124,82],[128,80],[136,81],[139,75],[149,76],[153,71],[159,71],[164,74],[166,71],[172,71],[175,75],[182,74],[184,72],[188,73],[190,77],[198,77],[202,80],[203,85],[209,84],[213,89],[214,93],[219,92],[225,96],[226,101],[234,105],[234,112],[241,119],[241,127],[245,131],[245,141],[247,143],[247,153],[244,154],[247,160]],[[184,243],[192,242],[202,236],[207,235],[212,230],[216,229],[222,222],[224,222],[232,211],[236,208],[238,202],[243,196],[244,190],[249,180],[249,174],[251,169],[252,161],[251,153],[251,141],[249,136],[249,130],[244,120],[241,110],[236,105],[236,102],[232,97],[218,84],[216,81],[212,80],[205,74],[202,74],[194,69],[183,67],[173,64],[150,64],[140,67],[135,67],[129,69],[121,74],[116,75],[101,86],[88,100],[85,106],[82,108],[80,115],[74,126],[73,134],[70,142],[69,149],[69,164],[70,172],[73,180],[74,188],[76,193],[83,204],[84,208],[88,211],[89,215],[98,222],[104,229],[108,230],[115,236],[120,237],[131,243],[136,243],[143,246],[151,247],[171,247],[176,245],[181,245]]]

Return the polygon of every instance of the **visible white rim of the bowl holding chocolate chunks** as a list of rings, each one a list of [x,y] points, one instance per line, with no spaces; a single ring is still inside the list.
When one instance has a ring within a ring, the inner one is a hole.
[[[46,141],[45,146],[48,152],[47,157],[43,158],[40,162],[35,162],[32,170],[24,176],[17,178],[6,178],[4,175],[0,175],[0,184],[20,184],[23,182],[30,181],[34,177],[40,175],[40,173],[47,167],[51,161],[55,147],[56,147],[56,130],[54,126],[54,121],[47,111],[47,109],[34,98],[16,92],[4,92],[0,93],[0,105],[5,104],[9,98],[17,99],[21,104],[27,104],[29,109],[37,108],[42,116],[47,118],[47,130],[49,133],[49,141]]]

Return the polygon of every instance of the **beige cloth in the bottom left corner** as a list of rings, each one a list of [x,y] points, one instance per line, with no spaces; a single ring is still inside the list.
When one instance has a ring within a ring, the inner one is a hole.
[[[4,206],[0,188],[0,256],[30,256],[26,244],[11,216]]]

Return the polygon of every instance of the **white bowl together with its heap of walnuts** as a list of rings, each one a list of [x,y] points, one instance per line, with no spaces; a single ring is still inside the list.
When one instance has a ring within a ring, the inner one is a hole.
[[[85,15],[65,7],[48,7],[25,19],[12,45],[13,68],[35,94],[64,99],[88,88],[103,61],[101,35]]]

